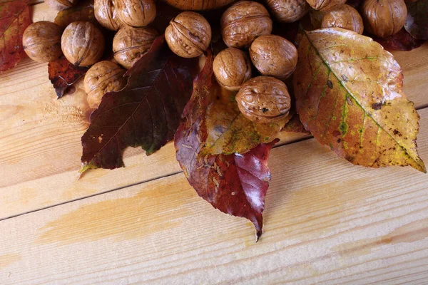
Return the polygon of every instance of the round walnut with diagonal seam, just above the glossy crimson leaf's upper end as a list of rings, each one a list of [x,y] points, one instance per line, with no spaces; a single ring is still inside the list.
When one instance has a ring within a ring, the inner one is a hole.
[[[202,15],[185,11],[170,21],[165,30],[165,39],[176,55],[195,58],[210,45],[211,26]]]

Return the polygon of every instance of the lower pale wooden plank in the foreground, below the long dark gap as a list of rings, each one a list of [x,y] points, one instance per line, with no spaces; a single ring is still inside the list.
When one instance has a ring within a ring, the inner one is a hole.
[[[314,139],[275,148],[270,166],[257,244],[250,222],[213,209],[180,173],[0,221],[0,284],[426,280],[427,175],[357,167]]]

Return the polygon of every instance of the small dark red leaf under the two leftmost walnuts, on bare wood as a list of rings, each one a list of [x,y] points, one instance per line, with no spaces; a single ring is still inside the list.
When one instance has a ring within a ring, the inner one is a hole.
[[[54,85],[56,95],[61,98],[67,88],[73,85],[78,78],[81,78],[88,71],[89,66],[78,67],[67,61],[65,56],[61,56],[48,64],[49,80]]]

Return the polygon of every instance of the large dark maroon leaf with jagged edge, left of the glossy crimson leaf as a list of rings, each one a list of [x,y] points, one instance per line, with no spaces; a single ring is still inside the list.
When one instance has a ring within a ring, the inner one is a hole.
[[[192,93],[198,60],[175,56],[160,36],[150,51],[130,68],[126,88],[103,95],[82,137],[83,167],[123,167],[122,152],[143,147],[155,152],[173,138]]]

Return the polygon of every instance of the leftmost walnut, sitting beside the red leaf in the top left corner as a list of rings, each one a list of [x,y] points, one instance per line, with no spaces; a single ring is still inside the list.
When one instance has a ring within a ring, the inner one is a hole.
[[[60,57],[62,28],[49,21],[31,24],[24,31],[22,46],[33,61],[49,62]]]

